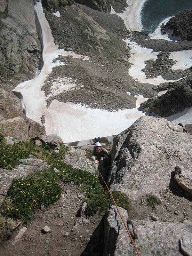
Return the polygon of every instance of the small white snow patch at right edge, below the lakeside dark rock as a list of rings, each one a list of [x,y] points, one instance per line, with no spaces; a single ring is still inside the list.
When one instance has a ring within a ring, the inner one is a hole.
[[[192,50],[171,52],[169,59],[176,60],[177,62],[172,66],[172,69],[190,68],[192,66]]]

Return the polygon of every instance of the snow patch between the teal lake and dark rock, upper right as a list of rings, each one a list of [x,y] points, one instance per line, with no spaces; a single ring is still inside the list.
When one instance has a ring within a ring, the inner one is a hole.
[[[172,16],[172,17],[174,17],[174,16]],[[156,28],[156,30],[155,30],[153,33],[149,34],[150,38],[149,38],[149,39],[146,39],[146,40],[150,40],[150,39],[164,39],[164,40],[176,41],[176,42],[181,41],[180,36],[179,36],[179,37],[172,36],[173,30],[167,31],[167,33],[164,34],[164,35],[163,35],[162,32],[161,32],[161,25],[162,25],[162,24],[166,25],[167,22],[168,22],[172,17],[169,17],[169,18],[164,19],[164,20],[158,25],[158,27]]]

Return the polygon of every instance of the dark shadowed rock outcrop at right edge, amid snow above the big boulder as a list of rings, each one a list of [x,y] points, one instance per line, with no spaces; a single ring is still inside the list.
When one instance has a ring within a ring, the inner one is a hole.
[[[176,83],[169,83],[164,89],[169,89],[169,85],[174,88],[163,95],[148,99],[141,103],[140,107],[148,108],[149,112],[165,117],[190,108],[192,106],[192,76]]]

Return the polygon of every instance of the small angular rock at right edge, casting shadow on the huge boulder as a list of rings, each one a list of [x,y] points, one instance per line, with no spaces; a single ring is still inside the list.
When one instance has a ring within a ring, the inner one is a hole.
[[[186,170],[183,166],[175,167],[174,179],[177,183],[192,195],[192,172]]]

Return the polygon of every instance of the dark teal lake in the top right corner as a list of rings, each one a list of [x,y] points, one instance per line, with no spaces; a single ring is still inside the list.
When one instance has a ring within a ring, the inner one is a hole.
[[[141,12],[145,33],[153,33],[165,18],[192,9],[192,0],[147,0]]]

